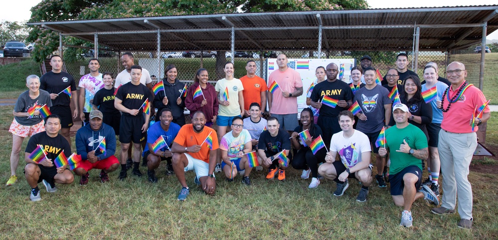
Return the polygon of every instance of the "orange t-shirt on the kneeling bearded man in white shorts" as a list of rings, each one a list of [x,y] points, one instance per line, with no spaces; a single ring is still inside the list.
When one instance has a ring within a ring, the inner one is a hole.
[[[209,163],[210,149],[208,144],[204,143],[203,141],[208,137],[210,133],[211,137],[213,137],[213,150],[217,150],[219,148],[218,136],[216,135],[215,130],[207,126],[204,126],[202,132],[196,133],[194,131],[194,128],[192,127],[192,124],[185,124],[182,128],[180,128],[180,131],[178,132],[178,135],[176,135],[174,142],[183,147],[201,145],[201,151],[188,154],[195,159],[203,160]]]

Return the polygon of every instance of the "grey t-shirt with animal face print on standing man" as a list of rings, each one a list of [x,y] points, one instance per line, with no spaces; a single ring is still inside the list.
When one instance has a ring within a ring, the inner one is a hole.
[[[362,133],[374,133],[382,129],[384,123],[384,104],[392,104],[389,98],[389,91],[377,84],[372,89],[360,88],[355,93],[353,102],[358,101],[363,113],[367,116],[367,121],[358,119],[356,129]],[[391,108],[387,109],[390,111]],[[389,119],[387,120],[389,122]]]

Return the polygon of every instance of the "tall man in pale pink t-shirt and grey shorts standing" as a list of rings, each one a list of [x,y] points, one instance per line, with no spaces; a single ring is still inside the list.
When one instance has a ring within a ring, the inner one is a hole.
[[[268,109],[272,117],[276,117],[280,126],[292,132],[297,122],[297,97],[303,94],[303,81],[298,72],[287,66],[285,54],[277,56],[278,71],[273,71],[268,78],[268,86],[276,81],[279,88],[274,94],[268,90]]]

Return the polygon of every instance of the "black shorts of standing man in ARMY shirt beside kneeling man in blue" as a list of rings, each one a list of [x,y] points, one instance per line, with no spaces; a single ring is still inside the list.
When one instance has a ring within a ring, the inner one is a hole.
[[[142,126],[145,120],[142,115],[139,117],[121,116],[120,122],[120,142],[121,143],[141,143],[145,141],[145,133],[142,133]]]

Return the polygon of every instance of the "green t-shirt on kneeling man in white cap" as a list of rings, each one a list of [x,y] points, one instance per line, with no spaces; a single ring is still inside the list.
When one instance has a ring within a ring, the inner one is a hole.
[[[427,148],[427,137],[424,132],[412,124],[405,128],[398,129],[396,125],[385,130],[386,147],[389,149],[389,158],[391,165],[389,174],[396,174],[407,166],[418,166],[422,170],[422,160],[413,157],[413,155],[396,152],[399,146],[406,140],[408,146],[414,150]]]

